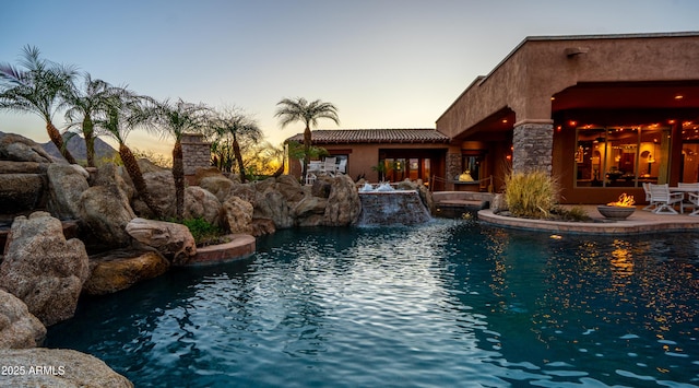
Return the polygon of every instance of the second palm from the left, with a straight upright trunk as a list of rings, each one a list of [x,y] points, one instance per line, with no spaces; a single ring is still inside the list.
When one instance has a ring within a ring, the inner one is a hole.
[[[66,120],[70,128],[79,128],[85,140],[85,153],[87,167],[95,166],[95,119],[104,114],[109,98],[119,93],[118,87],[111,86],[103,80],[93,80],[90,73],[85,73],[81,86],[72,83],[63,93],[63,101],[68,106]],[[69,132],[76,134],[76,132]],[[67,141],[70,138],[67,138]]]

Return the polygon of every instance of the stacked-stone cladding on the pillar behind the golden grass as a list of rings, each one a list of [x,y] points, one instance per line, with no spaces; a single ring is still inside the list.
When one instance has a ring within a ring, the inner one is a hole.
[[[512,172],[529,173],[553,169],[553,120],[523,120],[512,133]]]

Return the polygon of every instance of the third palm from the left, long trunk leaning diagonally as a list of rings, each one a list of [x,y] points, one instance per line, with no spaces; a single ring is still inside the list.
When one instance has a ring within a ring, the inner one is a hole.
[[[119,156],[123,163],[123,168],[131,177],[139,197],[151,209],[155,217],[161,217],[161,209],[155,204],[149,192],[141,167],[139,167],[133,152],[126,144],[126,138],[133,129],[147,125],[147,121],[152,119],[150,109],[145,107],[145,97],[121,89],[120,93],[112,95],[108,99],[104,117],[96,120],[95,125],[119,143]]]

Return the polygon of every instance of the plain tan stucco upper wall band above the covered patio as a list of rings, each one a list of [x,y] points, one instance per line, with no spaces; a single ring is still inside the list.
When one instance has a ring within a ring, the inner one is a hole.
[[[457,98],[437,130],[457,137],[505,107],[520,122],[549,119],[550,97],[579,82],[697,80],[698,51],[696,33],[526,38]]]

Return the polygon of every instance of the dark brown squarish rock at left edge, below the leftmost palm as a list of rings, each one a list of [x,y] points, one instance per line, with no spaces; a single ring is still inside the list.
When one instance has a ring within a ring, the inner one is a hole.
[[[47,188],[46,177],[39,174],[0,174],[0,213],[43,208]]]

